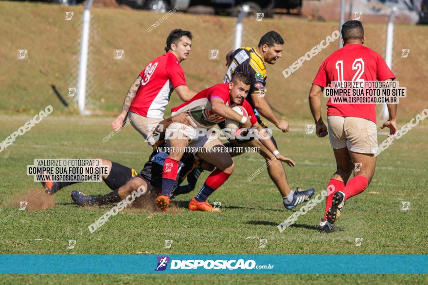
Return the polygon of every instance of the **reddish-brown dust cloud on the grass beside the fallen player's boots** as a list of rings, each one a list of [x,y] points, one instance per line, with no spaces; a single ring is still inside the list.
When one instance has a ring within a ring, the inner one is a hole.
[[[54,196],[46,194],[41,189],[31,189],[17,195],[7,204],[7,207],[21,210],[46,210],[55,206]]]

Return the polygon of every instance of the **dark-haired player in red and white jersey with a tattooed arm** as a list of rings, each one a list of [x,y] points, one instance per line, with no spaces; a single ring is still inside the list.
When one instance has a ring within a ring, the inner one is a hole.
[[[181,29],[173,30],[166,40],[166,53],[152,60],[135,79],[126,94],[122,113],[111,123],[119,131],[129,116],[131,125],[147,140],[147,135],[161,120],[175,90],[181,101],[188,101],[196,95],[187,87],[180,62],[186,60],[192,46],[192,34]],[[185,116],[175,121],[188,123]],[[149,145],[154,145],[149,140]]]

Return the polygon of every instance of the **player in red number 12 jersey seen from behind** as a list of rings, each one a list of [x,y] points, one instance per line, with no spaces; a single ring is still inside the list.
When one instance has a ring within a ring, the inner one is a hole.
[[[336,158],[337,170],[328,186],[334,192],[326,200],[324,217],[319,230],[330,233],[337,228],[334,222],[339,218],[345,201],[360,194],[371,182],[375,173],[377,147],[375,104],[333,104],[327,102],[328,130],[321,118],[321,93],[332,81],[387,81],[395,76],[382,57],[364,47],[364,29],[360,21],[352,20],[342,26],[343,48],[336,50],[321,64],[313,81],[309,104],[319,137],[329,134],[330,144]],[[396,104],[388,104],[389,119],[380,127],[390,129],[390,136],[397,132]],[[361,169],[349,176],[355,164]]]

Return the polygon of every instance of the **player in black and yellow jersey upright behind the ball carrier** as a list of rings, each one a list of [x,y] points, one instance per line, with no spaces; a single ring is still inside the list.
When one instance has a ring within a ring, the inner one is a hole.
[[[275,64],[276,60],[281,57],[283,51],[284,40],[280,34],[271,31],[263,35],[257,47],[254,48],[240,48],[232,50],[226,55],[228,70],[224,77],[224,83],[231,81],[234,74],[244,72],[250,77],[251,85],[248,92],[247,101],[253,108],[254,114],[257,117],[258,123],[266,127],[262,121],[262,117],[272,122],[284,133],[289,131],[288,122],[279,119],[270,108],[265,99],[266,94],[266,79],[267,70],[265,64]],[[219,124],[220,128],[225,128],[224,123]],[[272,140],[277,147],[277,144],[272,137]],[[275,155],[279,152],[272,153],[257,139],[250,140],[229,140],[229,147],[231,146],[244,146],[244,147],[257,147],[260,149],[260,154],[267,162],[267,170],[270,178],[277,186],[283,197],[285,208],[292,209],[298,204],[301,204],[310,199],[314,194],[314,189],[305,191],[291,191],[287,183],[285,169],[281,161],[275,159]],[[238,149],[238,148],[235,148]],[[278,149],[278,147],[277,147]],[[231,153],[231,156],[240,155],[242,153]]]

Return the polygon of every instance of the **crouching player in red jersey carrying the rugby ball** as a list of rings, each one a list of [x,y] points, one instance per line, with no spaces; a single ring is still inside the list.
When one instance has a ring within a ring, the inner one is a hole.
[[[183,155],[185,147],[204,149],[221,149],[224,147],[218,138],[208,137],[207,135],[198,136],[196,134],[197,128],[209,130],[219,122],[232,119],[241,122],[242,127],[245,129],[250,129],[251,126],[255,127],[261,137],[263,137],[262,134],[266,134],[266,130],[257,122],[250,104],[245,100],[250,90],[250,83],[249,76],[239,72],[233,76],[230,83],[216,84],[202,90],[190,101],[172,109],[173,116],[187,113],[192,126],[174,122],[166,130],[165,139],[171,149],[163,165],[162,194],[156,200],[159,208],[166,210],[169,205],[171,190],[177,178],[178,162]],[[244,107],[248,113],[248,118],[232,110],[231,107],[235,105]],[[168,133],[171,132],[181,133],[183,136],[168,139]],[[261,139],[261,141],[269,151],[276,153],[277,159],[287,163],[289,166],[295,166],[291,159],[279,154],[270,138]],[[217,209],[214,210],[206,200],[232,174],[234,168],[232,157],[226,151],[196,151],[196,155],[203,161],[213,165],[215,169],[205,180],[196,197],[190,201],[189,209],[194,211],[218,211]]]

